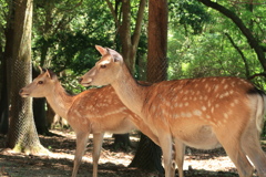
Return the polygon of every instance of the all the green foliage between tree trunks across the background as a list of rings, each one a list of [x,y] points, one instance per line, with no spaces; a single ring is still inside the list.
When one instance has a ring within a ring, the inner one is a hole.
[[[0,0],[0,39],[3,50],[4,28],[9,1]],[[82,2],[82,3],[80,3]],[[115,3],[114,0],[111,0]],[[140,1],[132,0],[132,29]],[[252,30],[259,44],[266,49],[266,4],[233,3],[221,0]],[[120,14],[117,3],[116,12]],[[38,0],[33,8],[32,53],[33,63],[52,69],[64,86],[73,93],[81,87],[76,79],[91,69],[100,58],[95,44],[117,48],[114,19],[104,0]],[[263,72],[257,55],[246,38],[232,20],[205,7],[197,0],[168,1],[168,80],[209,75],[236,75],[247,77]],[[121,17],[119,15],[119,19]],[[143,31],[147,25],[144,18]],[[243,52],[246,62],[225,35],[227,33]],[[145,79],[146,31],[142,33],[137,49],[136,77]],[[248,71],[246,71],[246,69]],[[248,75],[249,73],[249,75]],[[264,87],[262,77],[253,80]]]

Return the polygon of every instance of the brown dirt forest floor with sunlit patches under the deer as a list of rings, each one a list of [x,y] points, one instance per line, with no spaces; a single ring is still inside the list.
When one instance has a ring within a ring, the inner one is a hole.
[[[40,135],[41,144],[51,153],[45,156],[16,154],[4,148],[6,136],[0,135],[0,176],[1,177],[70,177],[73,166],[75,136],[70,131],[51,131],[54,136]],[[106,134],[99,162],[99,177],[160,177],[127,165],[134,157],[135,149],[127,152],[113,149],[112,135]],[[131,136],[137,144],[139,137]],[[266,143],[263,148],[266,152]],[[92,136],[79,168],[79,177],[92,176]],[[184,163],[186,177],[233,177],[238,176],[234,164],[223,148],[214,150],[186,149]],[[177,173],[177,171],[176,171]],[[176,174],[177,176],[177,174]],[[256,174],[254,174],[256,176]]]

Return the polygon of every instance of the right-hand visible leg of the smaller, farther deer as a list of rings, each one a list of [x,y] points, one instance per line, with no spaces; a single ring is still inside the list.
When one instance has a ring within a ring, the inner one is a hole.
[[[104,134],[93,134],[93,177],[98,176],[98,163],[101,154]]]

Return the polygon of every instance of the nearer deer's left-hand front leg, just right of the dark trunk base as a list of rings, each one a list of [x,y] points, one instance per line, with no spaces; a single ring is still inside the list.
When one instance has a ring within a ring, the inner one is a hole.
[[[163,152],[163,163],[164,163],[164,170],[165,177],[173,177],[175,175],[175,166],[173,165],[173,140],[171,135],[166,135],[162,133],[158,137],[160,146]]]

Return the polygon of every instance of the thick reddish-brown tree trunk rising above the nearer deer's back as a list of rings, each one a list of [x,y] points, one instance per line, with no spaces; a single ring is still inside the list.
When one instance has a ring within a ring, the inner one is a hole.
[[[149,1],[147,81],[167,79],[167,0]]]

